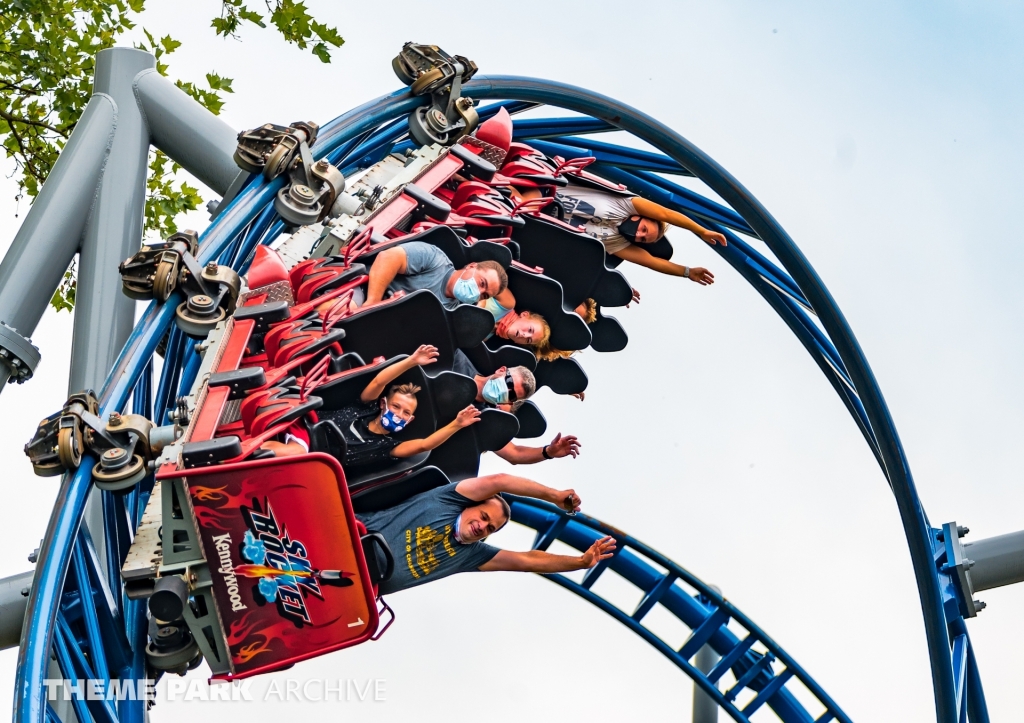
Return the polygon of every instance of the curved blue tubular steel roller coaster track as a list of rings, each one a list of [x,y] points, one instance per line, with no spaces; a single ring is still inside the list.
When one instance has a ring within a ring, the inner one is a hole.
[[[906,531],[913,561],[932,666],[937,719],[942,723],[964,720],[970,712],[973,723],[987,723],[974,652],[963,619],[947,620],[943,602],[950,599],[948,581],[936,567],[941,547],[936,530],[928,523],[909,472],[905,455],[881,390],[866,358],[842,312],[807,259],[771,215],[742,185],[711,158],[657,121],[610,98],[550,81],[528,78],[478,78],[465,87],[466,95],[502,99],[510,111],[549,104],[583,114],[584,118],[521,121],[517,137],[531,139],[545,152],[566,158],[595,156],[602,175],[625,182],[634,190],[691,216],[729,238],[719,253],[750,282],[779,313],[828,378],[858,424],[865,440],[889,480]],[[327,157],[349,172],[374,163],[404,136],[403,116],[423,102],[407,90],[382,96],[360,105],[324,126],[313,148],[315,157]],[[481,109],[486,117],[497,109]],[[639,152],[589,138],[582,134],[626,130],[665,155]],[[724,199],[731,208],[716,204],[666,179],[668,175],[696,176]],[[274,216],[272,199],[281,180],[252,180],[217,217],[202,237],[200,262],[217,260],[244,271],[255,247],[270,243],[283,230]],[[759,253],[735,232],[763,241],[781,267]],[[101,412],[125,410],[163,419],[175,397],[191,386],[199,369],[199,355],[172,325],[173,310],[180,300],[151,305],[136,326],[100,393]],[[154,352],[170,329],[166,362],[159,380],[155,377]],[[27,625],[23,631],[15,690],[15,720],[39,723],[55,715],[45,700],[43,680],[51,652],[62,677],[139,679],[144,672],[145,611],[141,602],[129,601],[120,584],[119,566],[131,540],[132,529],[144,509],[147,493],[143,482],[125,497],[102,494],[104,536],[92,540],[81,520],[90,493],[94,460],[86,458],[60,487],[46,536],[40,549],[35,585],[29,599]],[[572,520],[527,501],[514,507],[516,521],[539,529],[538,547],[559,539],[580,547],[594,535],[610,531],[626,548],[609,564],[640,588],[644,597],[633,613],[626,613],[593,592],[594,581],[604,569],[596,568],[582,584],[554,576],[558,584],[572,590],[628,625],[687,673],[737,721],[763,705],[784,721],[814,718],[786,690],[786,682],[800,680],[824,708],[817,720],[849,720],[806,673],[742,613],[708,586],[671,560],[644,547],[618,530],[589,517]],[[102,546],[100,563],[96,546]],[[664,567],[659,572],[650,563]],[[589,583],[589,584],[588,584]],[[681,586],[692,588],[686,592]],[[671,648],[641,624],[659,603],[693,632],[679,651]],[[954,607],[952,609],[955,609]],[[737,637],[726,626],[733,621],[744,631]],[[705,643],[724,657],[724,664],[709,675],[700,673],[689,658]],[[757,648],[753,647],[760,643]],[[758,649],[760,648],[760,649]],[[782,665],[778,672],[772,662]],[[732,668],[736,681],[724,693],[718,682]],[[738,672],[738,673],[737,673]],[[735,703],[749,688],[753,698],[742,709]],[[75,699],[80,721],[142,721],[143,704]]]

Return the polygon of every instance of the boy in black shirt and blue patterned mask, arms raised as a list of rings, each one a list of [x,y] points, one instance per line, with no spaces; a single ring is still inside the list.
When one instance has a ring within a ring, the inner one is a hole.
[[[440,446],[460,429],[480,421],[480,411],[470,405],[454,420],[423,439],[399,440],[392,437],[415,419],[418,405],[415,384],[392,384],[402,374],[417,365],[426,366],[437,360],[437,348],[424,344],[416,352],[397,364],[382,370],[359,395],[359,402],[336,410],[321,410],[321,420],[334,422],[345,438],[345,457],[342,468],[349,474],[359,474],[387,467],[396,459],[414,457]],[[384,390],[387,389],[387,393]],[[263,449],[276,457],[301,455],[309,451],[309,435],[300,420],[292,425],[284,442],[264,442]]]

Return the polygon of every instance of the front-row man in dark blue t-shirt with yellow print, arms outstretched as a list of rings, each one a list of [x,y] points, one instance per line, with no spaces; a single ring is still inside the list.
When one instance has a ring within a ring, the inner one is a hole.
[[[456,572],[569,572],[611,557],[615,542],[610,537],[597,540],[579,556],[543,550],[513,552],[485,544],[488,535],[509,521],[511,511],[502,493],[544,500],[572,512],[581,504],[572,490],[552,490],[523,477],[490,474],[435,487],[386,510],[356,515],[368,530],[384,536],[394,554],[394,573],[381,584],[381,594]]]

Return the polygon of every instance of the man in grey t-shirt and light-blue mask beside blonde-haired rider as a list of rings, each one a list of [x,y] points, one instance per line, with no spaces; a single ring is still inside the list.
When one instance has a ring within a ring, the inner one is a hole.
[[[444,308],[454,309],[498,296],[508,285],[508,274],[497,261],[469,263],[456,270],[436,246],[413,241],[377,255],[370,266],[366,303],[377,303],[386,291],[409,294],[427,289]]]

